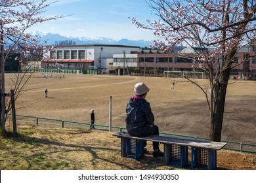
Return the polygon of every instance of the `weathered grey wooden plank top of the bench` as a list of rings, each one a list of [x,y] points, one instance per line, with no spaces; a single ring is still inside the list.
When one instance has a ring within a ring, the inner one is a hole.
[[[119,132],[114,133],[114,136],[117,137],[125,137],[131,139],[138,139],[141,141],[153,141],[153,142],[160,142],[164,144],[178,144],[181,146],[191,146],[195,148],[206,148],[211,150],[221,150],[226,143],[225,142],[211,142],[211,141],[199,141],[199,140],[192,140],[192,139],[179,139],[175,137],[164,137],[158,135],[150,135],[148,137],[132,137],[127,132]]]

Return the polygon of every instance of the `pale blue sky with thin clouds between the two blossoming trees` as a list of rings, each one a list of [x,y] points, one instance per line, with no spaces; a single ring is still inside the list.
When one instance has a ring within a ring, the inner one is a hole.
[[[127,19],[135,17],[139,22],[158,19],[145,0],[59,0],[47,8],[45,16],[70,14],[60,20],[37,24],[30,31],[71,37],[109,37],[116,41],[156,39],[152,31],[137,28]]]

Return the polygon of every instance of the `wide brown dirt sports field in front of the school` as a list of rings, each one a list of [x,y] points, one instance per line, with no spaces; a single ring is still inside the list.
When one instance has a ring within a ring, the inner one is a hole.
[[[13,74],[6,76],[9,88]],[[58,75],[59,76],[59,75]],[[16,101],[16,114],[75,122],[108,124],[112,96],[112,126],[125,127],[125,107],[137,82],[150,88],[146,99],[161,132],[209,137],[209,110],[199,88],[180,78],[66,74],[65,78],[43,78],[35,73]],[[207,80],[196,80],[209,91]],[[171,83],[175,89],[171,90]],[[44,90],[48,89],[48,97]],[[226,141],[256,144],[256,82],[230,80],[224,110],[223,135]]]

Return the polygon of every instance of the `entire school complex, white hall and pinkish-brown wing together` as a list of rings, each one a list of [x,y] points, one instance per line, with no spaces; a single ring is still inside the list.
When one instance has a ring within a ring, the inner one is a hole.
[[[163,71],[201,71],[196,54],[200,48],[179,48],[172,53],[142,50],[138,46],[108,44],[55,46],[55,48],[54,51],[47,53],[49,59],[41,61],[41,68],[88,69],[102,75],[131,75],[131,71],[135,70],[144,72],[153,70],[162,73]],[[215,69],[221,61],[221,58],[215,59]],[[231,75],[244,79],[256,78],[255,44],[243,46],[238,50],[234,57]]]

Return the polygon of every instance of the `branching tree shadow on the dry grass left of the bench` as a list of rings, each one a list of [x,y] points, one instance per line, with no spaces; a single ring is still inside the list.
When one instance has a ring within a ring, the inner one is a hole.
[[[85,133],[85,131],[78,131],[77,132],[77,135],[80,134],[80,133]],[[91,133],[90,131],[88,131],[87,133]],[[70,133],[71,134],[71,133]],[[12,141],[16,141],[16,142],[21,142],[21,143],[24,143],[25,145],[33,145],[33,146],[37,146],[40,148],[41,145],[47,145],[49,146],[50,148],[47,148],[47,149],[50,149],[49,151],[44,151],[42,150],[40,153],[34,153],[34,154],[30,154],[30,155],[27,155],[27,154],[23,154],[22,152],[20,152],[20,155],[22,158],[24,158],[26,160],[26,162],[28,163],[28,166],[26,167],[26,169],[33,169],[34,166],[33,166],[33,160],[32,159],[35,159],[35,158],[41,158],[43,156],[47,156],[49,154],[56,154],[56,153],[60,153],[60,152],[81,152],[83,153],[84,151],[86,152],[89,152],[89,154],[91,154],[91,156],[93,158],[91,158],[89,161],[91,161],[91,166],[92,166],[92,169],[93,167],[95,167],[95,169],[100,169],[99,167],[100,166],[95,166],[97,163],[100,163],[100,162],[104,162],[103,164],[106,165],[106,163],[110,163],[110,169],[111,167],[123,167],[123,169],[130,169],[130,170],[133,170],[133,169],[138,169],[138,167],[135,165],[131,165],[131,162],[128,163],[128,165],[126,164],[127,160],[128,159],[125,159],[125,158],[121,158],[121,161],[118,161],[119,158],[117,158],[117,150],[114,149],[114,148],[111,148],[111,147],[108,147],[108,146],[104,146],[102,144],[102,146],[99,146],[99,147],[96,147],[96,146],[93,146],[93,144],[91,145],[83,145],[83,144],[65,144],[63,142],[57,142],[57,141],[54,141],[54,139],[51,139],[51,137],[48,138],[37,138],[37,137],[30,137],[28,135],[23,135],[23,134],[18,134],[16,135],[16,137],[13,136],[12,133],[7,133],[7,135],[5,136],[6,139],[12,139]],[[90,142],[91,143],[91,142]],[[105,142],[106,143],[106,142]],[[111,146],[112,144],[110,144]],[[51,146],[56,146],[56,147],[64,147],[64,148],[54,148],[54,147],[51,147]],[[11,154],[13,154],[15,152],[15,150],[11,150],[10,147],[3,147],[5,149],[9,149],[9,152]],[[26,149],[24,149],[26,150]],[[110,156],[110,158],[105,158],[105,157],[100,157],[98,156],[97,154],[97,151],[106,151],[106,153],[108,154],[114,154],[114,156]],[[13,152],[13,153],[12,153]],[[22,155],[21,155],[22,154]],[[81,154],[80,154],[81,155]],[[80,156],[79,155],[79,156]],[[88,156],[88,155],[86,155]],[[56,159],[54,159],[56,161]],[[65,159],[60,159],[60,161],[65,161]],[[129,159],[128,161],[133,161],[133,159]],[[154,168],[154,166],[152,167],[152,165],[150,165],[150,163],[152,163],[153,159],[152,158],[149,158],[147,159],[146,161],[138,161],[138,163],[140,164],[140,169],[152,169]],[[157,161],[158,162],[158,161]],[[71,161],[72,163],[72,161]],[[158,163],[156,163],[158,164]],[[82,166],[82,165],[81,165]],[[79,166],[79,167],[81,167]],[[86,166],[86,165],[85,165]],[[156,165],[158,166],[158,165]],[[54,169],[53,167],[49,167],[49,169]],[[56,168],[58,169],[58,168]],[[104,167],[102,165],[102,169],[109,169],[108,167]]]

